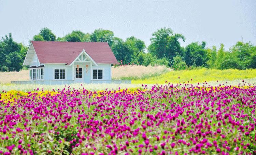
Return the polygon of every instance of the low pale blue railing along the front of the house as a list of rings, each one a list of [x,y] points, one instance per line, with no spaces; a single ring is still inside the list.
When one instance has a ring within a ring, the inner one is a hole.
[[[60,84],[72,84],[72,83],[84,83],[84,82],[76,82],[75,80],[29,80],[29,81],[11,81],[11,83],[12,84],[60,85]],[[131,80],[90,80],[90,83],[131,84]]]

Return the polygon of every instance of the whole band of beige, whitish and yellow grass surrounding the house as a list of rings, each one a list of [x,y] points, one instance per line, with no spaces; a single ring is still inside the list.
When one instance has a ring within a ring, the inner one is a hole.
[[[167,73],[166,73],[167,72]],[[164,74],[161,74],[164,73]],[[0,72],[0,91],[33,91],[34,89],[52,90],[63,89],[66,85],[33,85],[33,84],[10,84],[10,81],[28,80],[28,71],[20,72]],[[153,77],[151,77],[153,76]],[[133,79],[132,84],[71,84],[71,88],[85,88],[87,90],[105,90],[124,88],[141,88],[141,84],[164,84],[170,83],[200,83],[200,85],[216,86],[218,84],[238,85],[245,82],[256,85],[256,69],[251,70],[215,70],[199,69],[191,71],[170,71],[164,66],[119,66],[112,67],[113,79]],[[178,78],[180,77],[180,79]],[[191,81],[191,79],[193,79]],[[218,82],[217,82],[218,80]],[[203,83],[207,81],[208,83]]]

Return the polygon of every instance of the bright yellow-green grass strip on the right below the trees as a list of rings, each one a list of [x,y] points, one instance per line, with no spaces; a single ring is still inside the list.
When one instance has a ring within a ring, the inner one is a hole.
[[[180,77],[180,78],[179,78]],[[233,81],[239,79],[250,79],[256,77],[256,69],[248,69],[248,70],[215,70],[215,69],[198,69],[198,70],[190,70],[190,71],[172,71],[165,74],[162,74],[158,77],[152,77],[147,79],[137,79],[132,80],[133,84],[145,83],[145,84],[162,84],[165,81],[171,83],[178,82],[210,82],[210,81]],[[191,80],[192,79],[192,80]]]

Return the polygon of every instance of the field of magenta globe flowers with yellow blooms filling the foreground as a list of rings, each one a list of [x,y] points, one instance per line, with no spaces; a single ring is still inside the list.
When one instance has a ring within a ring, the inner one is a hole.
[[[255,154],[256,86],[2,92],[0,154]]]

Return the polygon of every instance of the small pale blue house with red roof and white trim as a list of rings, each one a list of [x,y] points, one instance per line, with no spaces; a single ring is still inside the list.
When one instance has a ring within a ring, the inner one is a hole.
[[[117,60],[107,42],[31,41],[23,65],[29,81],[12,83],[130,83],[111,79]]]

